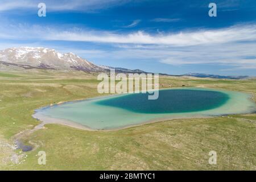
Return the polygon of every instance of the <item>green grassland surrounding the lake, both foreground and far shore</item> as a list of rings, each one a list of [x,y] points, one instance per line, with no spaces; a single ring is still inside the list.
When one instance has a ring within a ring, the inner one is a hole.
[[[85,131],[62,125],[26,134],[40,122],[36,108],[99,96],[95,75],[83,72],[0,73],[0,169],[256,169],[256,114],[176,119],[118,131]],[[201,86],[254,94],[256,80],[160,77],[160,87]],[[14,135],[35,150],[14,150]],[[208,163],[217,152],[217,165]],[[38,164],[46,151],[47,164]]]

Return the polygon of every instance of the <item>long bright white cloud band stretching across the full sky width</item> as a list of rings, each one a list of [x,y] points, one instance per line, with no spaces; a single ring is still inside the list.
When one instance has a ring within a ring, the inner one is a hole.
[[[5,38],[5,36],[25,40],[41,39],[121,44],[158,44],[183,47],[255,41],[256,24],[220,28],[217,30],[170,32],[167,34],[148,34],[143,31],[116,34],[108,31],[90,31],[80,28],[60,30],[54,27],[19,24],[18,26],[0,27],[0,38]]]

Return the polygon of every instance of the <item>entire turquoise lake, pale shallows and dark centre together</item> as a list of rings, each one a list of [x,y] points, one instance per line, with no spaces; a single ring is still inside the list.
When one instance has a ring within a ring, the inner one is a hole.
[[[93,130],[119,129],[174,118],[210,117],[255,112],[251,95],[203,88],[159,90],[148,94],[121,94],[43,107],[33,115],[44,123],[63,123]]]

